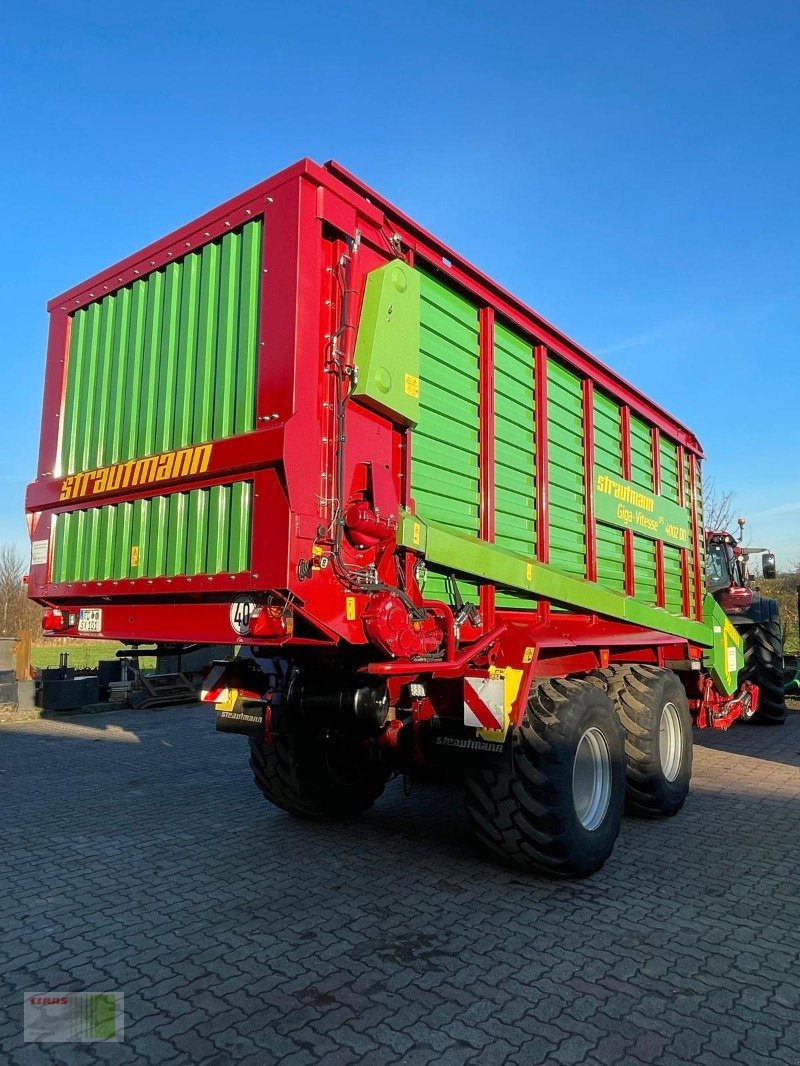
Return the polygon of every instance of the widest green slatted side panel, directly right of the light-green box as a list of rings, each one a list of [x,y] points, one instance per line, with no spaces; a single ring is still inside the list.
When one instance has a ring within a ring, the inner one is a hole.
[[[419,272],[419,421],[412,434],[411,488],[417,514],[478,535],[478,309]],[[459,581],[464,599],[477,585]],[[429,574],[425,595],[448,599],[444,578]]]

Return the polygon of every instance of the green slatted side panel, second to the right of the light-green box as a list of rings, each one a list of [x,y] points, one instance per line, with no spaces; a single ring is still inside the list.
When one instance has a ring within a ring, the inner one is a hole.
[[[531,559],[537,550],[533,350],[495,325],[495,544]],[[498,592],[497,607],[533,608],[529,596]]]

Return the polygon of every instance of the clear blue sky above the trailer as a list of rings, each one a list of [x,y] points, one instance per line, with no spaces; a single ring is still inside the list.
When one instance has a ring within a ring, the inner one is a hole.
[[[677,415],[800,561],[800,5],[15,4],[0,28],[0,542],[46,301],[335,158]]]

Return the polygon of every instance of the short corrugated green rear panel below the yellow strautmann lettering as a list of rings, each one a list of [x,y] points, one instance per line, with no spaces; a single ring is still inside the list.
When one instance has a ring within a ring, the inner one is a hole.
[[[67,511],[55,519],[52,580],[240,574],[251,526],[249,481]]]

